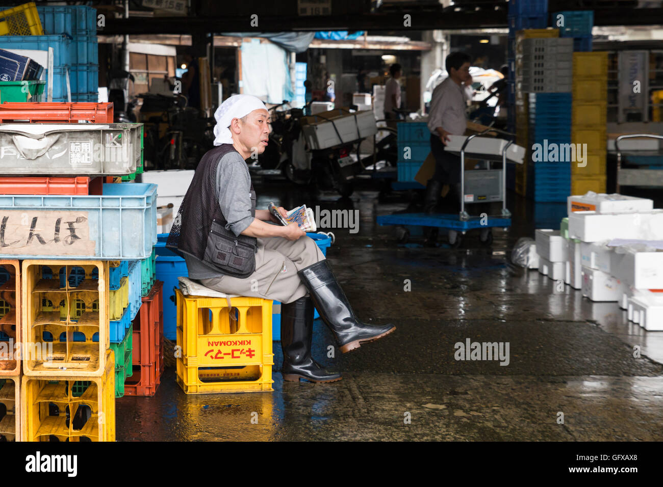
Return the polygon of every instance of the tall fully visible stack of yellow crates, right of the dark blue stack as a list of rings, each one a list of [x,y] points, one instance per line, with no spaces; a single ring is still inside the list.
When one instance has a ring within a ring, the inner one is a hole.
[[[571,164],[573,195],[585,194],[587,191],[605,193],[607,85],[607,52],[573,53],[571,142],[586,144],[581,145],[586,165]],[[584,148],[587,152],[584,152]]]

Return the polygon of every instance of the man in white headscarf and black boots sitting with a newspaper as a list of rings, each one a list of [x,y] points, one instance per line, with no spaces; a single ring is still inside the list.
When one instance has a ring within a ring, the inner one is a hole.
[[[284,380],[341,380],[311,357],[314,305],[342,352],[394,331],[355,317],[330,264],[296,223],[255,209],[245,160],[268,143],[269,112],[257,97],[234,95],[214,114],[214,145],[189,186],[166,246],[186,259],[189,278],[220,292],[281,301]],[[286,211],[278,211],[285,216]]]

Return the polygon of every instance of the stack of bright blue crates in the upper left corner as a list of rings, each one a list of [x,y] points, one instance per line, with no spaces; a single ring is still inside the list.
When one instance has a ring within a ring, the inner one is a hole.
[[[55,56],[53,63],[53,101],[68,101],[67,74],[72,101],[98,101],[97,10],[85,6],[60,6],[37,7],[37,11],[44,33],[49,34],[49,38],[62,38],[57,44],[61,54],[59,58]]]

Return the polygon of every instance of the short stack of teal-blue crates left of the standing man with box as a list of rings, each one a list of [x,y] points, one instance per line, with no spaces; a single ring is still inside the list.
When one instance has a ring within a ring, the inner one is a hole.
[[[398,182],[414,182],[414,176],[430,152],[430,131],[426,122],[398,122]]]

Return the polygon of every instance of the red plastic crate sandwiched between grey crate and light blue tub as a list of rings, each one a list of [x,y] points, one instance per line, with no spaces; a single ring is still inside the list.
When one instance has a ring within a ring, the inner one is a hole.
[[[0,105],[1,106],[1,105]],[[101,195],[104,177],[0,176],[0,194]]]

